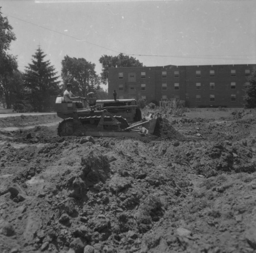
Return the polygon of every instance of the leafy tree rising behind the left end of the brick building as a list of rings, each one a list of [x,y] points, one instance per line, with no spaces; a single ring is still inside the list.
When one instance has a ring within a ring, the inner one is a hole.
[[[99,62],[102,64],[101,78],[104,84],[108,82],[108,68],[119,67],[142,67],[143,64],[136,60],[136,58],[122,53],[117,56],[103,55],[99,58]]]

